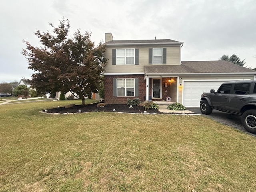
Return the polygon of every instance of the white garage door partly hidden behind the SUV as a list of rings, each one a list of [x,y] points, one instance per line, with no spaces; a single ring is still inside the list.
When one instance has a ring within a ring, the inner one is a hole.
[[[184,81],[183,105],[185,107],[199,107],[203,92],[209,93],[211,89],[217,91],[220,85],[227,81]]]

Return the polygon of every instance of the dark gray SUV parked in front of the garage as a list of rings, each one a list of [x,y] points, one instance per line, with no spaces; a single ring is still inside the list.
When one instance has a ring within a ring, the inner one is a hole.
[[[225,82],[217,92],[204,92],[200,100],[202,114],[211,114],[213,109],[242,115],[244,128],[256,134],[256,80]]]

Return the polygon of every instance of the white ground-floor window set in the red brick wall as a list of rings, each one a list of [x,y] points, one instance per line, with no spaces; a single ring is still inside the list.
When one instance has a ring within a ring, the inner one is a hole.
[[[135,96],[135,79],[116,79],[117,96]]]

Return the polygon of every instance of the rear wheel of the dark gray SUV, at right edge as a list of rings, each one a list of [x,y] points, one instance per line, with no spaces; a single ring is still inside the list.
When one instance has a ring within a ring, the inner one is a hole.
[[[256,110],[245,111],[242,114],[242,124],[248,132],[256,134]]]

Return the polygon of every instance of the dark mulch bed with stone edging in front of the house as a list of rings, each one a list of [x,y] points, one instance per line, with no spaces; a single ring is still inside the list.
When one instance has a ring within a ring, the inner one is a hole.
[[[52,108],[47,109],[47,113],[78,113],[78,110],[81,110],[82,113],[84,112],[113,112],[113,110],[116,110],[116,112],[124,112],[124,113],[144,113],[143,107],[137,107],[134,106],[133,108],[130,108],[127,104],[106,104],[104,107],[97,107],[97,103],[93,104],[87,104],[85,106],[81,105],[75,105],[72,108],[65,108],[65,107],[59,107],[59,108]],[[45,110],[42,110],[42,112],[45,112]],[[157,109],[149,109],[147,110],[147,113],[161,113]]]

